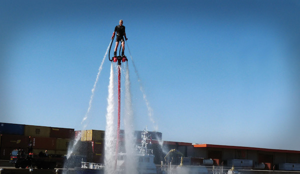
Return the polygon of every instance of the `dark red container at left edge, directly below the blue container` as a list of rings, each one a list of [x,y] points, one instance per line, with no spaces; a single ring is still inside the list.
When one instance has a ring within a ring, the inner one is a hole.
[[[1,135],[1,147],[9,148],[22,148],[25,149],[28,146],[29,137],[23,135]]]

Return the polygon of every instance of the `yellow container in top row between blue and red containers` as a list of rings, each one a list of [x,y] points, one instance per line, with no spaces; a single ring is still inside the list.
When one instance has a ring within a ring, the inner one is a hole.
[[[50,137],[50,127],[36,126],[36,125],[25,125],[24,135],[34,137]]]

